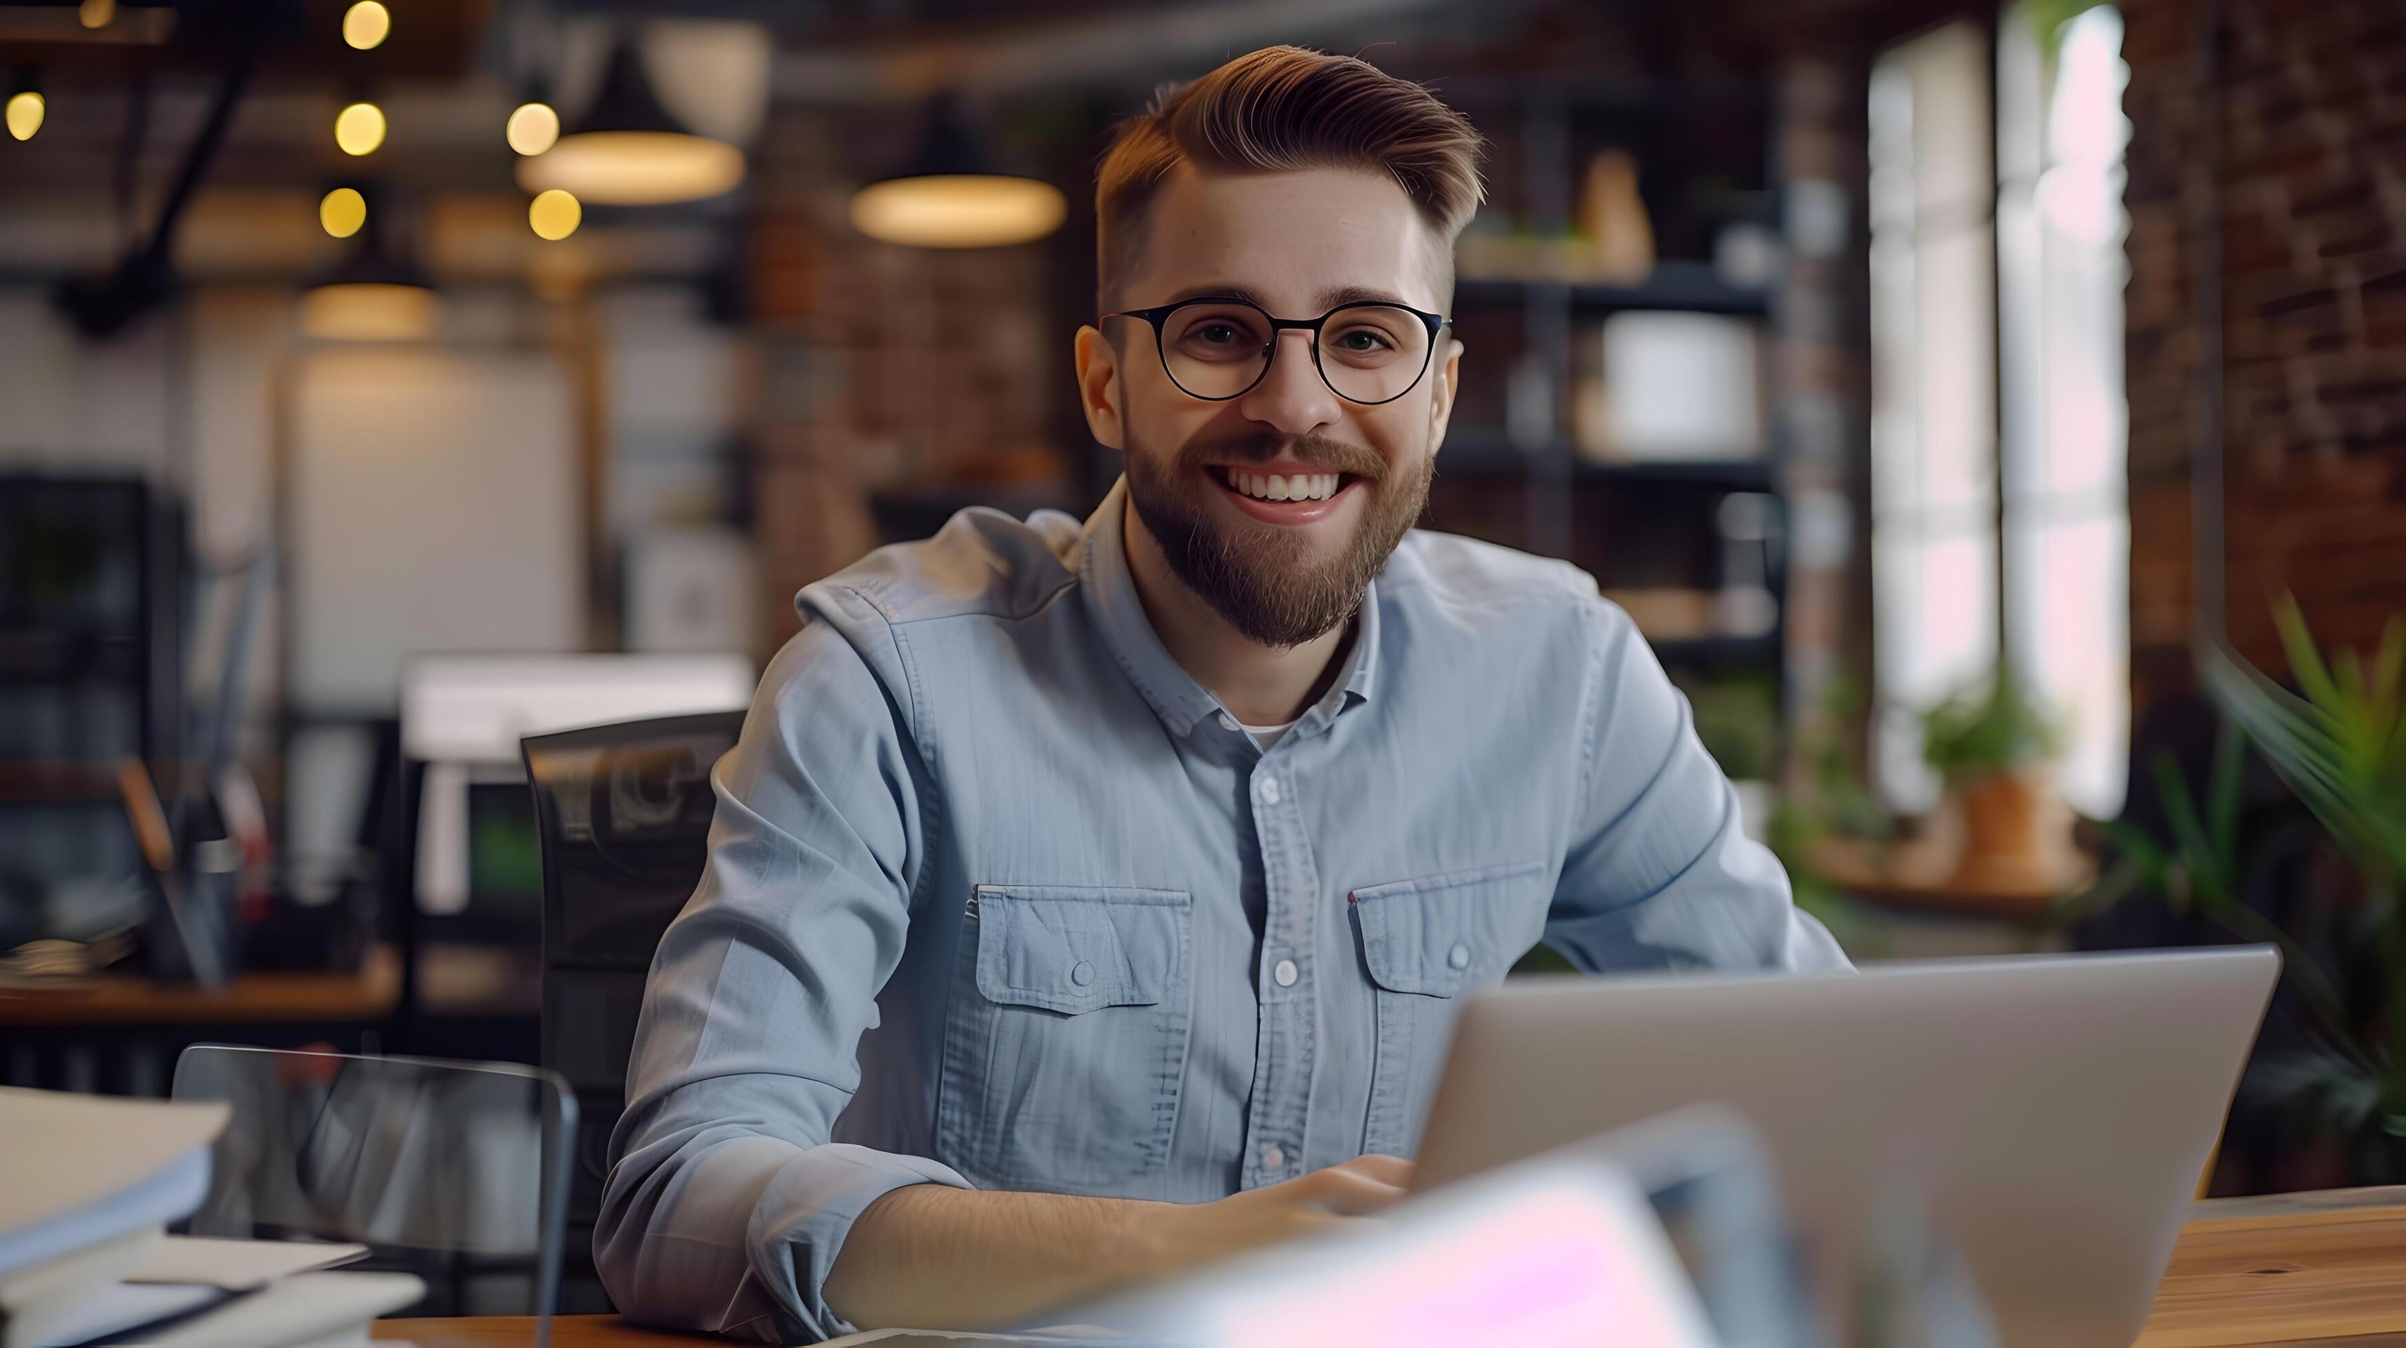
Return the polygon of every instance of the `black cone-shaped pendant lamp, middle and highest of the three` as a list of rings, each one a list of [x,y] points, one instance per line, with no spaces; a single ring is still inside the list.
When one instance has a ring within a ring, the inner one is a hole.
[[[585,118],[551,149],[517,161],[517,185],[527,193],[561,188],[606,207],[695,202],[741,181],[743,152],[676,120],[626,36],[611,46],[602,91]]]

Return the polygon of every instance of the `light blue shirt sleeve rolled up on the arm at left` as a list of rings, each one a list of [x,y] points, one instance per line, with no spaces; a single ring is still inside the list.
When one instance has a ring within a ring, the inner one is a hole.
[[[700,886],[652,960],[594,1264],[633,1319],[816,1341],[854,1218],[905,1184],[967,1182],[830,1143],[859,1040],[902,958],[921,859],[905,727],[845,635],[811,621],[712,770]]]

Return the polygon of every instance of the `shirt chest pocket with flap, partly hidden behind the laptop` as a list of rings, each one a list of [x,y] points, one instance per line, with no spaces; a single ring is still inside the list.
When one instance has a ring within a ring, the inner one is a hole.
[[[1545,929],[1545,864],[1480,867],[1352,891],[1374,1042],[1362,1151],[1412,1155],[1456,999],[1504,982]]]

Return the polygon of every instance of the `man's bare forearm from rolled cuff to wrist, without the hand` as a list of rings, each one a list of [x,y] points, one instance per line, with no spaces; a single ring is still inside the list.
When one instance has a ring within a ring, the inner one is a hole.
[[[1169,1266],[1177,1204],[912,1184],[852,1223],[828,1307],[861,1329],[1008,1324]]]

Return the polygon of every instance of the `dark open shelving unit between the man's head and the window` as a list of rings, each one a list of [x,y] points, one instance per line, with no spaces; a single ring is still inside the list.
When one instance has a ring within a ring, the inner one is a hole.
[[[1638,156],[1648,214],[1658,221],[1655,233],[1667,255],[1634,284],[1583,279],[1571,265],[1540,267],[1569,255],[1569,248],[1549,253],[1545,243],[1516,248],[1509,258],[1528,258],[1530,270],[1564,274],[1477,270],[1458,274],[1453,320],[1456,335],[1468,347],[1465,390],[1436,460],[1432,525],[1576,561],[1605,590],[1658,585],[1718,590],[1720,503],[1732,493],[1771,496],[1771,539],[1764,556],[1764,583],[1778,602],[1771,631],[1663,635],[1653,638],[1653,648],[1675,674],[1699,679],[1768,674],[1778,681],[1785,674],[1785,578],[1778,546],[1785,508],[1776,501],[1778,438],[1773,436],[1761,453],[1732,445],[1725,457],[1598,462],[1578,453],[1566,416],[1566,395],[1576,376],[1576,335],[1590,323],[1619,311],[1708,313],[1759,320],[1766,327],[1776,318],[1776,286],[1735,284],[1696,255],[1708,250],[1701,241],[1720,224],[1730,219],[1768,224],[1766,217],[1776,214],[1768,99],[1759,96],[1759,89],[1752,96],[1730,94],[1715,94],[1713,111],[1725,123],[1752,118],[1747,123],[1752,135],[1735,137],[1747,147],[1744,159],[1701,164],[1675,149],[1682,128],[1696,113],[1696,104],[1684,101],[1677,87],[1648,87],[1643,96],[1545,79],[1525,87],[1448,87],[1448,96],[1463,99],[1465,111],[1499,142],[1499,200],[1492,209],[1513,214],[1516,233],[1533,241],[1566,238],[1586,156],[1605,144],[1624,144]],[[1756,152],[1761,159],[1754,159]],[[1752,209],[1715,217],[1703,207],[1682,207],[1675,197],[1703,178],[1718,178],[1725,188],[1715,200],[1752,202]],[[1670,231],[1663,226],[1665,219],[1675,221]],[[1492,267],[1497,255],[1497,248],[1485,248],[1477,260]]]

